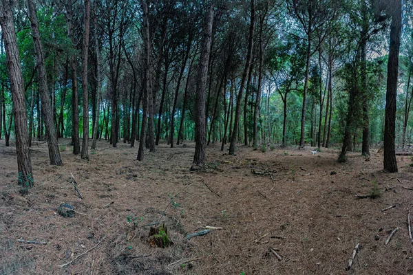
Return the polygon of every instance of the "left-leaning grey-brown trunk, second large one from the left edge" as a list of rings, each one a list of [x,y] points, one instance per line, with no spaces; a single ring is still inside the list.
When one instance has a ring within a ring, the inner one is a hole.
[[[36,5],[33,0],[28,0],[29,17],[31,21],[34,50],[36,52],[37,74],[39,76],[39,93],[41,96],[41,111],[45,120],[47,146],[49,148],[50,164],[62,165],[62,159],[57,143],[56,129],[54,128],[52,106],[47,90],[47,75],[43,47],[40,40],[39,22],[37,21]]]

